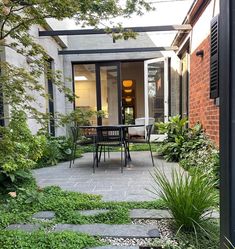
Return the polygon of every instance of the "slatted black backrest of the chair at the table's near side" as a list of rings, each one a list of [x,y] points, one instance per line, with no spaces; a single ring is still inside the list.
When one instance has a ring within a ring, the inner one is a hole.
[[[101,126],[97,128],[96,142],[119,142],[123,143],[123,129],[116,126]]]

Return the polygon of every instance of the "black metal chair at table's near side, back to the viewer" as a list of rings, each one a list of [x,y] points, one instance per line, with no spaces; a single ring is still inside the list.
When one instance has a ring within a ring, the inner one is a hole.
[[[120,147],[121,148],[121,172],[123,173],[123,148],[125,154],[125,166],[126,166],[126,143],[124,140],[123,129],[115,126],[101,126],[97,128],[97,136],[95,139],[95,155],[93,162],[93,172],[95,172],[95,165],[98,167],[100,157],[99,149],[105,147]]]

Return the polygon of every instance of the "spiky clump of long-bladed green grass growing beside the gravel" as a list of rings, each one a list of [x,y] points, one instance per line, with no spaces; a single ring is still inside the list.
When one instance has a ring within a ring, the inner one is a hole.
[[[177,228],[189,231],[203,229],[204,214],[218,203],[214,181],[208,179],[207,174],[190,176],[176,170],[172,171],[169,179],[159,169],[154,170],[153,179],[157,185],[153,192],[163,199]]]

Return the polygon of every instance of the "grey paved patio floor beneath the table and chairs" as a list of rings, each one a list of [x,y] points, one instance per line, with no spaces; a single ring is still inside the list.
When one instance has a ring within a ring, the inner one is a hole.
[[[146,189],[153,184],[150,175],[153,172],[149,152],[131,152],[132,161],[120,170],[120,153],[110,153],[110,159],[102,162],[95,173],[92,170],[92,153],[86,153],[76,159],[72,168],[69,162],[57,166],[33,170],[33,174],[40,187],[57,185],[64,190],[91,194],[101,194],[105,201],[145,201],[153,200],[157,196]],[[176,163],[168,163],[154,157],[155,167],[160,167],[170,176],[173,168],[179,168]]]

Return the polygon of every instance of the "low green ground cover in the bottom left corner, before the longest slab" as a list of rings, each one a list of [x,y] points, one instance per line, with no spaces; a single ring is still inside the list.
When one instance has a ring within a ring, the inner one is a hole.
[[[0,231],[1,249],[82,249],[100,246],[103,243],[86,234],[75,232],[48,233],[47,231],[22,232]]]

